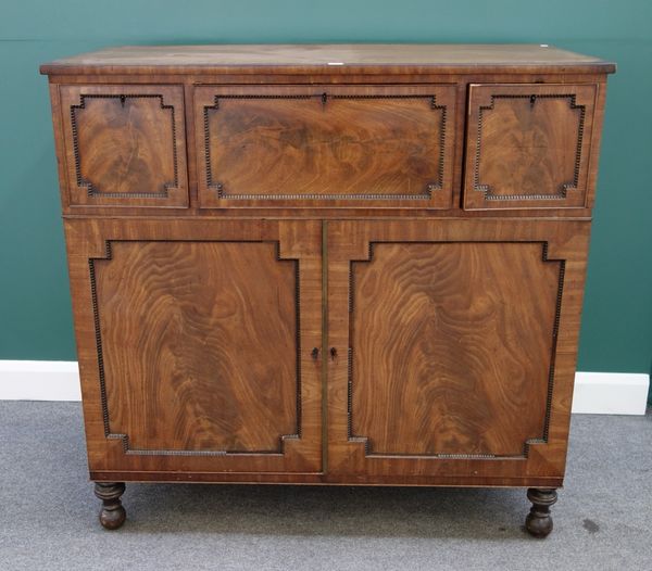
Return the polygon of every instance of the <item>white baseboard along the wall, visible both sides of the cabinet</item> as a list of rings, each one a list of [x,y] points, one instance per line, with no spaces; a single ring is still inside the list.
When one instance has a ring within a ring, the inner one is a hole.
[[[650,376],[578,372],[573,413],[644,415]],[[0,401],[80,401],[77,363],[0,360]]]

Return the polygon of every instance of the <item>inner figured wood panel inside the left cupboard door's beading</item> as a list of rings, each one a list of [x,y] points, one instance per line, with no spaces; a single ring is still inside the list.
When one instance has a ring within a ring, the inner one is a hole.
[[[113,241],[91,261],[108,432],[130,451],[298,435],[298,263],[275,242]]]

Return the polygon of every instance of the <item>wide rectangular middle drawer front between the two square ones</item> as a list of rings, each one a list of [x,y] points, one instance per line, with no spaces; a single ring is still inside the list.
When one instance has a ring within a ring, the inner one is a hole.
[[[200,205],[448,208],[454,106],[449,85],[198,87]]]

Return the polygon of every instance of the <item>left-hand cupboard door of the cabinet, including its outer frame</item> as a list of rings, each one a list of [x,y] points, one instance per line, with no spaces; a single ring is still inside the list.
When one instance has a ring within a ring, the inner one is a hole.
[[[66,231],[91,474],[321,470],[318,223]]]

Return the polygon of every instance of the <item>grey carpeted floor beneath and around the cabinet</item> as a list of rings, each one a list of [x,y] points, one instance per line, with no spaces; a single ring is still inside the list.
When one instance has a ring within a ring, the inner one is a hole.
[[[651,570],[652,416],[573,419],[544,541],[523,490],[127,485],[97,522],[78,403],[0,402],[0,569]]]

